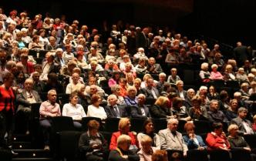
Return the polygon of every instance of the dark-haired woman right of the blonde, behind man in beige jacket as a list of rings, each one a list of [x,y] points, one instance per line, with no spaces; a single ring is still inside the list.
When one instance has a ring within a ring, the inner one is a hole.
[[[187,108],[183,106],[183,99],[180,99],[179,97],[175,97],[173,99],[173,106],[171,108],[171,112],[173,116],[177,116],[177,119],[184,119],[186,121],[189,121],[191,119],[189,113],[187,112]]]

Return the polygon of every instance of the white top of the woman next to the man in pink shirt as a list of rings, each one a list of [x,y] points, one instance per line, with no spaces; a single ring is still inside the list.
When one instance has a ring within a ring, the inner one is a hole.
[[[62,109],[62,116],[69,116],[74,120],[81,120],[83,117],[86,117],[86,112],[80,104],[73,106],[71,103],[66,103]]]

